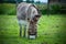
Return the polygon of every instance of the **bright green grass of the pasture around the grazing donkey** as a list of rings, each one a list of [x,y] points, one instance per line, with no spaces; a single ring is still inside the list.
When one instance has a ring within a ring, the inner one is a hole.
[[[15,15],[0,15],[0,44],[66,44],[66,15],[42,15],[37,24],[37,37],[19,36]]]

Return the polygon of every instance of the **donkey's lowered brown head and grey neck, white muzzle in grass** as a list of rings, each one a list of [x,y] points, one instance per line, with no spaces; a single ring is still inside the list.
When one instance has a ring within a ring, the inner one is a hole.
[[[40,10],[36,8],[36,6],[32,4],[31,6],[31,21],[30,21],[30,26],[29,26],[29,35],[30,38],[35,38],[36,37],[36,30],[37,30],[37,21],[41,18]]]

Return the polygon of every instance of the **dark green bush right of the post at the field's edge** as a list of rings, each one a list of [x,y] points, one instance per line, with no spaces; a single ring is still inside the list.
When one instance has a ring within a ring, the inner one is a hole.
[[[51,13],[54,13],[54,14],[56,14],[56,13],[64,13],[64,14],[66,14],[66,10],[63,10],[63,9],[66,9],[65,7],[63,7],[62,4],[53,4],[53,6],[51,6]]]

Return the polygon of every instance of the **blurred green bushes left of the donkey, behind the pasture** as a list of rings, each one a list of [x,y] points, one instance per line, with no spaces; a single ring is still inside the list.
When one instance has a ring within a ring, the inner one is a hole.
[[[0,4],[0,14],[15,14],[15,4],[12,3],[1,3]]]

